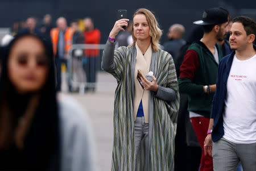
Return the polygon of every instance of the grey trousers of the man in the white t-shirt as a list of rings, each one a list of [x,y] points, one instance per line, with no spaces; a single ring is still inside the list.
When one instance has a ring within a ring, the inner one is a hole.
[[[214,171],[236,170],[241,161],[243,171],[256,170],[256,143],[236,144],[223,137],[213,143],[212,150]]]

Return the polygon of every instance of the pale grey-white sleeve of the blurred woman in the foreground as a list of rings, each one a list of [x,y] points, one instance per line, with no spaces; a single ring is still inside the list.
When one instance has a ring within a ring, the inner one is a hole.
[[[73,99],[61,96],[59,113],[61,171],[95,171],[95,141],[87,112]]]

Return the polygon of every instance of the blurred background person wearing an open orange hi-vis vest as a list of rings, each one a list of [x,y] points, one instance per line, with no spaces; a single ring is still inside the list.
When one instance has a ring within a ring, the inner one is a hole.
[[[61,90],[61,64],[64,63],[67,67],[68,52],[72,47],[73,31],[67,27],[67,20],[64,17],[57,19],[57,28],[52,28],[51,39],[53,44],[53,54],[55,56],[56,71],[57,71],[57,91]],[[69,89],[71,89],[71,86]]]

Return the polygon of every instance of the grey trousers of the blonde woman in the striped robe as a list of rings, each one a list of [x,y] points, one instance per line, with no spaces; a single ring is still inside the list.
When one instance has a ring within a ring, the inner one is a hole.
[[[135,131],[135,159],[137,157],[139,145],[141,145],[142,139],[145,139],[145,148],[148,148],[148,123],[145,123],[144,117],[137,117],[134,122]],[[146,156],[147,156],[146,150]]]

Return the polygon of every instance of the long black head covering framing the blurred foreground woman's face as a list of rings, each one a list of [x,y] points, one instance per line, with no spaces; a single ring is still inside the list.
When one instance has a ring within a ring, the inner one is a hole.
[[[5,125],[0,126],[0,144],[2,146],[0,151],[14,148],[13,130],[18,125],[18,118],[24,115],[23,111],[24,109],[26,110],[32,97],[31,93],[20,95],[16,92],[7,73],[7,62],[11,48],[13,48],[17,40],[25,36],[36,37],[43,43],[49,60],[48,76],[46,83],[39,92],[39,103],[34,110],[30,126],[26,131],[24,148],[20,152],[14,151],[10,153],[10,157],[3,161],[1,168],[6,166],[7,170],[46,170],[46,168],[52,167],[54,168],[53,170],[59,170],[59,115],[56,101],[54,57],[51,41],[39,35],[28,33],[16,35],[3,49],[0,75],[0,124],[5,123]],[[7,111],[5,106],[8,108]],[[3,109],[4,107],[5,109]],[[19,157],[16,157],[17,155]],[[0,158],[2,159],[2,156]],[[15,165],[17,162],[23,163],[23,165]],[[10,165],[10,163],[13,163],[13,165]]]

